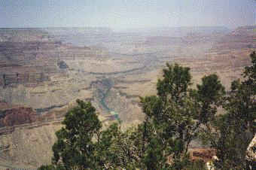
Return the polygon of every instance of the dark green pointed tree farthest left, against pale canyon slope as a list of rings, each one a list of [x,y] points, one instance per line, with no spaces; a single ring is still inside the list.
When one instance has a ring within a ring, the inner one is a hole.
[[[53,144],[53,165],[65,169],[91,169],[98,166],[95,159],[96,141],[102,124],[90,102],[77,100],[78,106],[65,116],[64,127],[56,132]]]

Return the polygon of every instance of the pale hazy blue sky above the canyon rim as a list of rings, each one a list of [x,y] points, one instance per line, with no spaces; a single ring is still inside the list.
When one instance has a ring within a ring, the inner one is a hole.
[[[255,25],[255,0],[0,0],[0,27]]]

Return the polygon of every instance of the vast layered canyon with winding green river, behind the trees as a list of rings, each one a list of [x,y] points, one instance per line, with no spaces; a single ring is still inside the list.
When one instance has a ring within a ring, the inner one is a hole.
[[[123,129],[136,125],[144,119],[139,96],[156,93],[166,62],[190,67],[193,86],[216,73],[229,90],[250,65],[255,29],[0,29],[0,168],[50,163],[55,132],[76,99],[92,102],[104,126],[111,113]]]

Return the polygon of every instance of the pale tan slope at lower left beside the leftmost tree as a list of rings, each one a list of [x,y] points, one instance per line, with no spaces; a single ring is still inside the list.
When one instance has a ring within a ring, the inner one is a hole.
[[[5,162],[17,168],[50,164],[55,132],[61,127],[60,121],[48,121],[0,128],[0,164]]]

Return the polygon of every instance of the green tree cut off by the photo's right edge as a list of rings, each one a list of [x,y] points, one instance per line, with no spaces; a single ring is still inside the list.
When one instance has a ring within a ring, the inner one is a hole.
[[[227,113],[215,117],[212,129],[204,138],[217,150],[219,169],[248,169],[252,162],[245,160],[245,152],[255,134],[256,119],[256,54],[251,53],[252,65],[245,67],[244,80],[234,80],[223,103]]]

